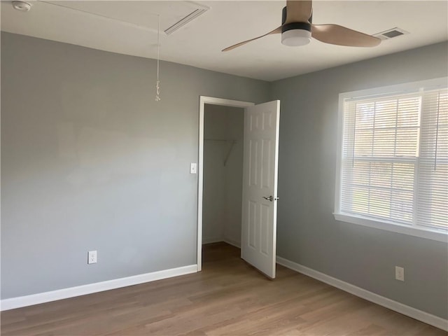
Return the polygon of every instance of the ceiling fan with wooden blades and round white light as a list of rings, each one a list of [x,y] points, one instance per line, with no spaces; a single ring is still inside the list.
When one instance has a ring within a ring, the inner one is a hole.
[[[271,34],[281,34],[281,43],[292,46],[308,44],[311,37],[324,43],[351,47],[374,47],[381,43],[381,39],[377,37],[339,25],[313,25],[312,13],[312,1],[286,1],[280,27],[262,36],[230,45],[222,51],[235,49]]]

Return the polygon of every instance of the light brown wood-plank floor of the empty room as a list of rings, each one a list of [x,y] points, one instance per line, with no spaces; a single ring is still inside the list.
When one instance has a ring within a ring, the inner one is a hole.
[[[277,266],[270,281],[224,243],[203,271],[3,311],[1,335],[447,335]]]

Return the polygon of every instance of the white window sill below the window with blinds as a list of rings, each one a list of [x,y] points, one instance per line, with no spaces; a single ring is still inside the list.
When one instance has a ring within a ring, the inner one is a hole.
[[[432,239],[436,241],[448,242],[448,231],[437,230],[430,228],[415,228],[407,225],[400,225],[395,223],[387,223],[382,221],[375,221],[370,218],[363,218],[360,216],[353,216],[348,214],[333,214],[336,221],[342,221],[346,223],[358,224],[367,226],[369,228],[375,228],[379,230],[386,230],[391,232],[401,233],[403,235],[410,235],[414,237],[421,237],[426,239]]]

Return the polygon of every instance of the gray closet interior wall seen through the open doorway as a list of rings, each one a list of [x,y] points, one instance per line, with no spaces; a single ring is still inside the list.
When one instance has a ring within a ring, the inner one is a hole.
[[[241,244],[244,109],[206,104],[204,110],[204,244]],[[221,140],[228,141],[221,141]],[[216,141],[218,140],[218,141]],[[232,146],[232,142],[235,144]],[[229,155],[226,165],[224,160]]]

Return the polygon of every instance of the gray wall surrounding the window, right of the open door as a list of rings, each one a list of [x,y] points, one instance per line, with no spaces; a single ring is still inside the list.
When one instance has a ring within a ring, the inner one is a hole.
[[[338,94],[447,76],[447,50],[440,43],[279,80],[271,97],[281,100],[278,255],[442,318],[446,243],[338,222],[332,212]]]

